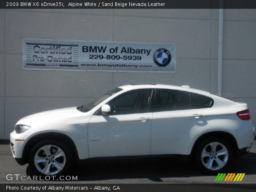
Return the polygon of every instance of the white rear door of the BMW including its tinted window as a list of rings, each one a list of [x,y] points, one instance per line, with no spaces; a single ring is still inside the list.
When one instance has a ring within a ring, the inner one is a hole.
[[[192,107],[190,92],[157,89],[152,116],[151,154],[187,154],[204,126],[205,109]]]

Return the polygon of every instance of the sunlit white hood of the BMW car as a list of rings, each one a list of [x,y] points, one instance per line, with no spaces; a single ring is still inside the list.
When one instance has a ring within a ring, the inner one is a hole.
[[[38,122],[52,122],[59,120],[68,120],[70,118],[85,116],[86,113],[80,112],[77,107],[61,108],[55,110],[35,113],[20,119],[17,124],[32,126]]]

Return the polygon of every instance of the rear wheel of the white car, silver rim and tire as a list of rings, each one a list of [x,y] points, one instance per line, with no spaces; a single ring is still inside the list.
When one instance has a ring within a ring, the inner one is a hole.
[[[222,172],[232,160],[232,149],[222,138],[208,138],[196,150],[196,164],[208,174]]]

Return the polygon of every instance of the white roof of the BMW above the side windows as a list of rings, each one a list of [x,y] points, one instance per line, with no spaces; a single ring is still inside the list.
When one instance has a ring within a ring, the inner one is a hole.
[[[119,86],[119,88],[123,90],[132,90],[132,89],[138,89],[138,88],[160,88],[160,89],[175,89],[175,90],[181,90],[181,91],[195,92],[195,93],[204,94],[204,95],[210,94],[207,91],[190,88],[188,85],[174,86],[174,85],[165,85],[165,84],[140,84],[140,85],[128,84],[128,85]]]

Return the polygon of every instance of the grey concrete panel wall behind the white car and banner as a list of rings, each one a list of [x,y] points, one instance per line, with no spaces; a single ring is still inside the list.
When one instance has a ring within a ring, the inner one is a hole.
[[[254,124],[255,34],[256,10],[224,10],[223,96],[248,103]],[[176,43],[177,72],[22,70],[21,38]],[[78,106],[123,84],[190,84],[216,93],[217,59],[218,10],[0,10],[0,138],[24,116]]]

